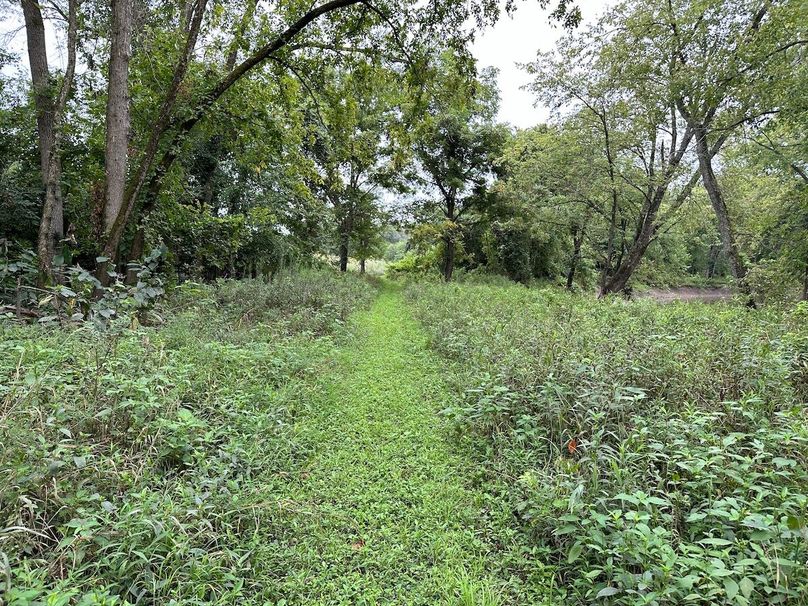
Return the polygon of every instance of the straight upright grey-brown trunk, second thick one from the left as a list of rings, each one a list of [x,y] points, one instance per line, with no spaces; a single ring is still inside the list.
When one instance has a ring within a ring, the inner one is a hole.
[[[107,86],[106,192],[104,239],[109,239],[124,205],[129,152],[129,59],[132,56],[132,0],[112,0],[109,84]],[[116,247],[117,248],[117,247]],[[115,257],[112,251],[111,257]],[[102,282],[108,274],[99,275]]]

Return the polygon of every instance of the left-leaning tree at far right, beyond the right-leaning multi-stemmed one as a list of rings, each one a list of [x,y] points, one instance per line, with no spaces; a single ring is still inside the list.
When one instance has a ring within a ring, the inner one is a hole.
[[[669,40],[677,64],[673,82],[677,108],[694,130],[702,184],[736,279],[743,278],[746,268],[710,149],[719,151],[717,141],[725,141],[732,130],[773,109],[755,103],[749,91],[764,85],[766,64],[781,61],[791,46],[780,15],[770,14],[774,8],[769,1],[713,0],[699,5],[671,1],[664,15],[651,17],[668,22],[663,39]]]

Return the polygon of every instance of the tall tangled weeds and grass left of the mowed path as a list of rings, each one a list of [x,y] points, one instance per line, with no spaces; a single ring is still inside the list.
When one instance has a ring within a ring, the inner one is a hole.
[[[305,455],[295,386],[372,296],[309,272],[185,284],[158,327],[0,324],[3,602],[280,599],[255,553]]]

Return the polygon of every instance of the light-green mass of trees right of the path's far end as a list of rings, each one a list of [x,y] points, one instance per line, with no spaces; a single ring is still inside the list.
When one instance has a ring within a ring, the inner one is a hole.
[[[442,250],[417,229],[427,246],[401,268],[433,254],[602,293],[734,279],[808,297],[806,11],[630,1],[571,32],[526,66],[550,125],[484,141],[472,121],[448,137],[461,210],[444,208]]]

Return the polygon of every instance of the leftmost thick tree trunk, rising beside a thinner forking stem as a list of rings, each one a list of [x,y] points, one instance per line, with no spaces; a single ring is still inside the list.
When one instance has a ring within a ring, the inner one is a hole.
[[[31,85],[37,111],[37,135],[45,198],[39,223],[37,255],[40,274],[52,276],[53,257],[64,237],[64,209],[62,203],[62,165],[57,141],[57,100],[51,90],[48,68],[45,23],[35,0],[22,0]],[[72,78],[72,74],[69,74]],[[63,86],[69,86],[67,82]]]

